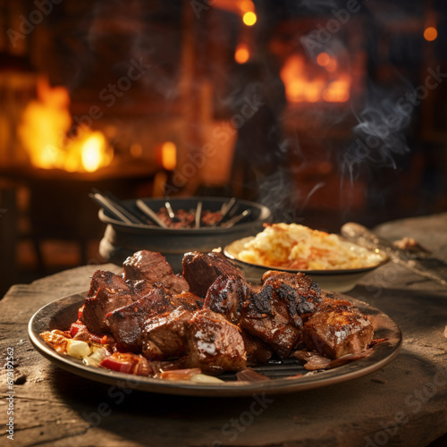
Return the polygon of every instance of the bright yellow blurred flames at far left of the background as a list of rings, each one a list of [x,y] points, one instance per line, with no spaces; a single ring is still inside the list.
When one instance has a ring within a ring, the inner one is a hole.
[[[42,169],[89,173],[110,164],[113,152],[100,131],[81,127],[75,138],[67,139],[72,126],[67,89],[52,88],[46,78],[39,78],[37,92],[37,100],[25,108],[18,129],[31,164]]]

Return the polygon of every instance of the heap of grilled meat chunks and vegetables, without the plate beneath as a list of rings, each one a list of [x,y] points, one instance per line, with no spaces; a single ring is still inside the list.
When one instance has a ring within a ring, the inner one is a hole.
[[[378,342],[368,316],[306,274],[269,271],[252,285],[220,253],[187,253],[182,264],[173,274],[160,253],[141,250],[122,274],[97,270],[78,320],[40,337],[91,367],[196,382],[225,371],[268,380],[250,366],[274,358],[335,367]]]

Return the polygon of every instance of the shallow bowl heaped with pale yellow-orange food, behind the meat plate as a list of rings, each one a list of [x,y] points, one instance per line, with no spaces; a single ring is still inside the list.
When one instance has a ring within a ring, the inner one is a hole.
[[[322,289],[337,292],[350,291],[388,261],[383,251],[298,223],[266,223],[262,232],[233,240],[223,253],[249,281],[259,282],[268,270],[301,272],[316,279]]]

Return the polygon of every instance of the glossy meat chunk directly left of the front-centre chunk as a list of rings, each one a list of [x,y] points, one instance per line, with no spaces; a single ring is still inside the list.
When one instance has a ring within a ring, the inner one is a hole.
[[[149,360],[181,357],[186,350],[186,328],[193,313],[176,308],[169,314],[148,318],[141,336],[143,355]]]

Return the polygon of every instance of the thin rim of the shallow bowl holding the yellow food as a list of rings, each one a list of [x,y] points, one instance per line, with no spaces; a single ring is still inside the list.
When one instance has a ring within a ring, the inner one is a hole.
[[[389,262],[390,258],[384,253],[384,250],[378,250],[378,254],[380,254],[383,259],[379,263],[373,265],[373,266],[366,266],[366,267],[358,267],[358,268],[345,268],[345,269],[325,269],[325,270],[306,270],[306,269],[293,269],[293,268],[285,268],[280,266],[263,266],[261,264],[253,264],[251,262],[243,261],[239,257],[236,257],[234,254],[232,254],[229,249],[232,247],[233,244],[241,243],[242,240],[253,240],[255,239],[255,236],[247,236],[245,238],[233,240],[231,243],[227,244],[225,247],[223,247],[223,254],[225,257],[228,257],[232,261],[239,262],[240,264],[243,264],[244,266],[249,266],[251,268],[259,268],[259,269],[265,269],[265,270],[279,270],[282,272],[290,272],[292,274],[309,274],[309,275],[343,275],[343,274],[362,274],[367,273],[372,270],[375,270],[376,268],[380,266],[384,266],[387,262]],[[350,242],[349,240],[347,240]],[[361,247],[358,244],[354,242],[350,242],[350,244],[355,245],[357,247]],[[368,250],[372,251],[372,250]]]

